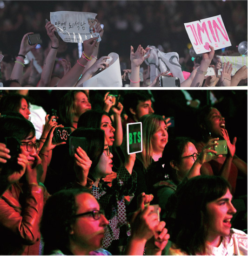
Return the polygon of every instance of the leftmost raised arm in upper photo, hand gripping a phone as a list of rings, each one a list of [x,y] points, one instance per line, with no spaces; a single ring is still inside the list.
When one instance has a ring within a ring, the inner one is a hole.
[[[10,79],[14,80],[17,79],[18,82],[21,84],[22,76],[23,76],[23,68],[24,68],[24,59],[26,54],[33,48],[37,46],[35,45],[29,45],[28,44],[28,38],[27,35],[32,35],[34,33],[27,33],[23,36],[21,43],[20,43],[20,50],[19,54],[16,57],[16,61],[14,63],[14,67],[10,76]]]

